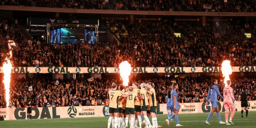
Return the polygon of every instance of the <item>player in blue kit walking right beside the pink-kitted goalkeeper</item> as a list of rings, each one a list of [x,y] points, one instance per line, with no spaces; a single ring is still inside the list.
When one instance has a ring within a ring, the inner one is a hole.
[[[207,117],[206,121],[204,122],[207,125],[211,125],[208,121],[211,119],[212,114],[214,113],[214,111],[216,111],[216,115],[218,117],[219,124],[226,124],[225,122],[221,121],[221,116],[220,116],[219,108],[218,108],[218,104],[217,104],[218,96],[220,96],[222,99],[224,99],[223,96],[221,96],[221,93],[218,89],[218,80],[213,79],[213,84],[212,84],[212,86],[210,87],[210,89],[208,91],[208,95],[207,95],[207,99],[206,99],[206,103],[205,103],[205,106],[207,106],[208,101],[210,99],[211,104],[212,104],[212,110],[209,113],[209,116]]]

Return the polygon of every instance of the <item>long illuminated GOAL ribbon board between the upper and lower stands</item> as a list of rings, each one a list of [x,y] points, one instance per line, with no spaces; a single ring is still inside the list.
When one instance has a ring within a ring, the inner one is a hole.
[[[2,68],[2,67],[0,67]],[[132,67],[131,73],[219,73],[222,67]],[[233,72],[255,72],[256,66],[232,67]],[[0,70],[0,73],[3,73]],[[119,73],[118,67],[13,67],[12,73]]]

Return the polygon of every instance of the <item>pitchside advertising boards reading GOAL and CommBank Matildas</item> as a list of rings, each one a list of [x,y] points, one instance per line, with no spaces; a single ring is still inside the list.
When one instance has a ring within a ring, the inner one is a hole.
[[[241,111],[241,102],[236,105],[236,111]],[[180,113],[209,113],[211,104],[180,103]],[[256,111],[256,101],[248,102],[249,111]],[[221,112],[224,112],[223,102],[218,102]],[[0,116],[5,120],[26,119],[27,108],[0,108]],[[157,105],[157,114],[167,114],[166,104]],[[81,118],[109,116],[108,106],[71,106],[32,108],[32,119]]]

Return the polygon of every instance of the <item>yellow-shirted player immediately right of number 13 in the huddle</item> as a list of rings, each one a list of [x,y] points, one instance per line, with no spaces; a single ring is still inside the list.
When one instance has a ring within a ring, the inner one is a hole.
[[[135,123],[134,126],[137,126],[138,120],[141,128],[142,119],[140,117],[141,113],[141,103],[140,103],[140,89],[138,89],[139,84],[137,82],[132,83],[133,91],[132,93],[136,95],[136,99],[134,99],[134,108],[135,108]]]

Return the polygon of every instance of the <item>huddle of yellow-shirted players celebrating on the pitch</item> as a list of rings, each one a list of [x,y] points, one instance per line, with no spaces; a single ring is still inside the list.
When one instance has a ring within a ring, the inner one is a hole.
[[[112,83],[112,90],[108,92],[110,101],[108,128],[110,128],[111,122],[113,128],[127,128],[129,115],[130,128],[138,128],[138,122],[140,128],[142,128],[143,122],[147,128],[161,127],[157,123],[157,100],[154,83],[142,83],[140,89],[138,87],[139,84],[136,82],[130,87],[122,84],[117,86]],[[152,118],[152,125],[148,119],[149,116]],[[145,121],[142,122],[143,117]]]

